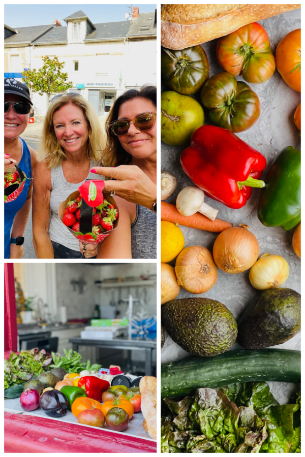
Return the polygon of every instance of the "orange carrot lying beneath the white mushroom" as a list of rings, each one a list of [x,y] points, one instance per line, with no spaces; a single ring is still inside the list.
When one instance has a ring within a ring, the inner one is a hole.
[[[222,219],[210,220],[200,213],[195,213],[193,216],[182,216],[175,205],[165,202],[161,202],[161,220],[216,233],[223,232],[226,228],[232,227],[230,222]]]

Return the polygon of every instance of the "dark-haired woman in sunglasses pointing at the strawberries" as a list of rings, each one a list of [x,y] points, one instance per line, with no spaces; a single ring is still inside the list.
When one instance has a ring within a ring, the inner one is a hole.
[[[157,89],[146,85],[128,90],[114,102],[106,121],[104,167],[91,172],[107,176],[107,192],[115,192],[119,209],[129,214],[131,257],[157,257]],[[118,253],[118,233],[98,248],[98,258]]]

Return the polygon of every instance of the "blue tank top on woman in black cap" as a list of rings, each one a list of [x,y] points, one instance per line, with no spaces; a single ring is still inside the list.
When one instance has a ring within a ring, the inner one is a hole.
[[[19,138],[21,141],[22,148],[22,157],[19,162],[19,167],[28,178],[32,178],[32,166],[31,166],[31,153],[22,138]],[[22,208],[27,197],[28,187],[31,184],[29,179],[25,180],[25,184],[22,192],[16,200],[13,202],[4,204],[4,258],[10,258],[10,237],[11,237],[11,228],[13,225],[14,217],[18,211]]]

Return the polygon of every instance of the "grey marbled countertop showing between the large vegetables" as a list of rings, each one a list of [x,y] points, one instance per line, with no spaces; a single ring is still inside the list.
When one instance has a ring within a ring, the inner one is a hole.
[[[272,53],[281,39],[291,30],[300,27],[300,10],[294,10],[281,14],[260,23],[266,28],[269,35]],[[204,43],[202,46],[207,54],[210,63],[210,76],[221,73],[221,69],[216,57],[217,40]],[[242,81],[242,77],[237,77]],[[246,141],[252,147],[260,151],[267,159],[268,170],[271,162],[286,146],[299,147],[300,138],[296,128],[293,115],[296,107],[300,103],[300,93],[291,89],[276,71],[275,74],[263,84],[250,84],[252,89],[258,94],[261,103],[261,114],[255,125],[237,134],[239,138]],[[167,90],[163,86],[163,90]],[[200,95],[200,92],[199,92]],[[197,100],[198,94],[195,95]],[[205,123],[208,123],[208,116],[205,116]],[[174,147],[162,143],[161,146],[161,169],[172,173],[178,181],[175,192],[166,200],[168,203],[175,203],[179,191],[187,186],[194,185],[188,176],[182,171],[180,166],[180,153],[184,147]],[[266,171],[261,179],[264,178]],[[250,231],[257,237],[260,245],[260,255],[264,252],[279,254],[286,258],[289,264],[289,277],[283,287],[289,287],[300,292],[300,259],[292,249],[293,231],[285,232],[281,227],[265,227],[257,217],[257,205],[259,189],[254,189],[251,199],[247,205],[238,210],[227,208],[223,204],[214,200],[205,199],[205,202],[219,210],[218,216],[234,224],[246,223],[250,226]],[[185,237],[185,246],[201,245],[212,250],[217,234],[195,230],[185,226],[180,226]],[[174,266],[174,261],[171,263]],[[233,313],[236,319],[239,318],[247,305],[259,295],[259,291],[252,287],[249,281],[249,271],[238,275],[228,275],[218,270],[218,280],[216,285],[208,292],[201,295],[194,295],[181,288],[177,298],[187,297],[206,297],[218,300],[225,304]],[[238,348],[235,343],[231,349]],[[276,346],[284,349],[300,350],[300,333],[286,343]],[[161,352],[161,363],[166,363],[188,356],[188,353],[175,344],[166,334],[166,340]],[[294,384],[270,383],[271,390],[280,403],[289,401]]]

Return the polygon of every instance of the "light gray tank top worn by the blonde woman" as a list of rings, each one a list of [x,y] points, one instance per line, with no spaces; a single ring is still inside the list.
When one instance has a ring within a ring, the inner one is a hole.
[[[90,170],[95,166],[93,161],[90,162]],[[101,175],[96,173],[88,173],[87,179],[103,179]],[[69,249],[79,251],[78,240],[67,230],[63,222],[58,217],[58,206],[64,200],[66,200],[70,193],[75,192],[77,188],[82,184],[68,182],[65,178],[63,167],[52,168],[51,170],[51,184],[52,191],[50,197],[50,222],[49,222],[49,236],[52,241],[62,244]]]

